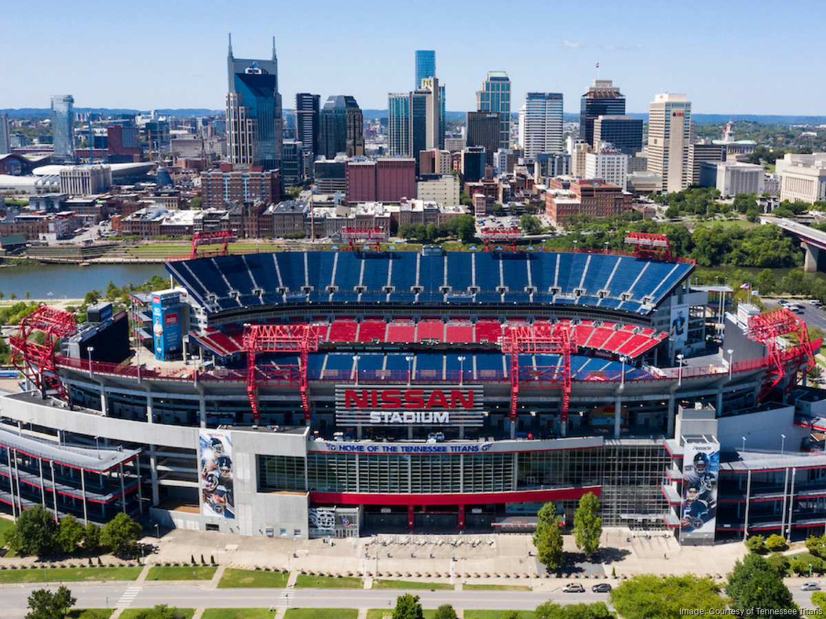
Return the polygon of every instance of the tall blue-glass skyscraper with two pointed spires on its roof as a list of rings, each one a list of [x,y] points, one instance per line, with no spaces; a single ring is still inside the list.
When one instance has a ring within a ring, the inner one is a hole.
[[[232,55],[232,35],[226,59],[227,149],[235,164],[280,168],[283,149],[281,95],[278,94],[278,59],[273,37],[271,60],[250,60]]]

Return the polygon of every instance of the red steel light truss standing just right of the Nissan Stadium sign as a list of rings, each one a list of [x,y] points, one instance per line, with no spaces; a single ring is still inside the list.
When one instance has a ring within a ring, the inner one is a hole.
[[[537,323],[533,325],[507,326],[501,339],[502,352],[510,353],[510,421],[516,420],[516,402],[519,397],[520,381],[550,380],[562,387],[563,402],[559,420],[567,423],[568,404],[571,400],[571,355],[577,353],[577,342],[573,338],[570,324]],[[562,355],[563,364],[537,370],[523,371],[520,376],[520,354],[536,353]]]

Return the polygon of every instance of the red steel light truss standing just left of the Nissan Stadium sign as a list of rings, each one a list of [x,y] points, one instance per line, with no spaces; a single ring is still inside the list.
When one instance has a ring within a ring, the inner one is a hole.
[[[247,395],[253,409],[253,423],[261,420],[258,388],[271,378],[283,379],[289,368],[277,366],[259,367],[255,356],[259,352],[298,352],[301,365],[298,368],[301,385],[301,407],[304,420],[310,423],[310,395],[307,388],[307,357],[318,350],[321,332],[315,324],[245,324],[244,351],[247,353]]]

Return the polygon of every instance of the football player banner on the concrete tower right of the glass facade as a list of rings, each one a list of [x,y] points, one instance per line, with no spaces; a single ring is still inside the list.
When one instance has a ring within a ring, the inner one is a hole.
[[[682,532],[714,534],[719,456],[719,443],[686,443],[682,466]]]

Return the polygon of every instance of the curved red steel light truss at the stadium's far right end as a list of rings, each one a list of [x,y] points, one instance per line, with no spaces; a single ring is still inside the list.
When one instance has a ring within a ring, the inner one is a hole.
[[[783,347],[779,339],[783,335],[790,336],[788,339],[796,342],[791,347]],[[805,322],[789,309],[772,309],[765,314],[749,317],[748,337],[766,344],[768,349],[769,371],[757,395],[758,404],[783,380],[787,367],[793,368],[795,375],[795,380],[790,380],[787,385],[788,390],[797,384],[798,374],[805,374],[814,367],[809,330]]]

